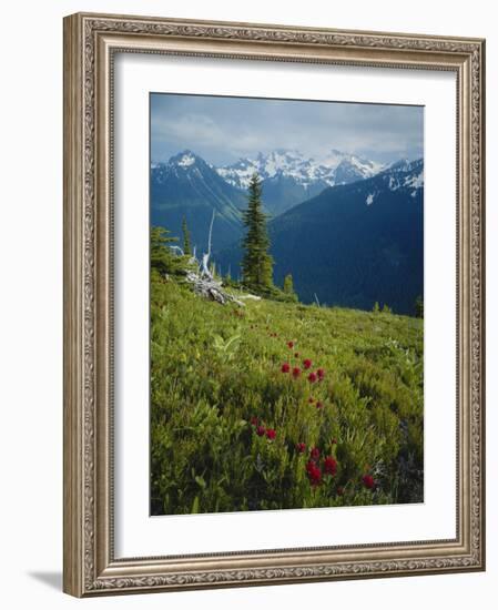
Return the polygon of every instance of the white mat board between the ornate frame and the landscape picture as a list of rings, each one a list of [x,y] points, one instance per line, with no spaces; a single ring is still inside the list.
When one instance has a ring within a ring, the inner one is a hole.
[[[131,53],[115,62],[116,557],[456,536],[456,78],[426,70],[270,67]],[[150,394],[149,92],[210,93],[213,83],[222,94],[425,104],[424,504],[149,518],[149,411],[136,408]]]

